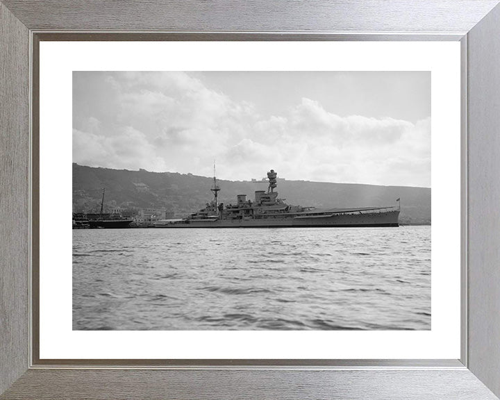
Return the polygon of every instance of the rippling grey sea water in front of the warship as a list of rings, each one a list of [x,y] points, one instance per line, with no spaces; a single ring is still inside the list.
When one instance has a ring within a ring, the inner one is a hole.
[[[431,226],[73,231],[74,330],[428,330]]]

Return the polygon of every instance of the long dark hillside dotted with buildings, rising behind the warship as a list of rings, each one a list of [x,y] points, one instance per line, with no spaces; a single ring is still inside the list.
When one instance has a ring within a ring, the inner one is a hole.
[[[74,212],[98,211],[103,188],[106,188],[106,210],[122,208],[165,208],[169,215],[184,217],[203,208],[212,199],[213,178],[148,172],[144,169],[109,169],[73,164]],[[235,203],[237,194],[267,190],[265,183],[251,181],[218,181],[219,201]],[[394,206],[401,198],[400,222],[431,224],[431,189],[404,186],[360,185],[353,183],[323,183],[288,181],[278,178],[279,197],[289,204],[317,208]]]

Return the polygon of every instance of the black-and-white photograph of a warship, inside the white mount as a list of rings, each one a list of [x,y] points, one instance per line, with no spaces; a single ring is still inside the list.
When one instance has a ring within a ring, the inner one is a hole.
[[[74,71],[72,97],[74,331],[431,330],[431,72]]]

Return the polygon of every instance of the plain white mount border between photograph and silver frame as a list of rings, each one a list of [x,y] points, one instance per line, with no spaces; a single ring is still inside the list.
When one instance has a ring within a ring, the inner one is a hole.
[[[72,331],[64,216],[82,70],[431,71],[431,331]],[[460,358],[460,43],[41,42],[40,358]]]

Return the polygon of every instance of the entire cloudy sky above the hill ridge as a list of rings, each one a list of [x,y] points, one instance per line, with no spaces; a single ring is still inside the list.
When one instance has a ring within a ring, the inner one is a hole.
[[[74,72],[73,162],[431,187],[430,72]]]

